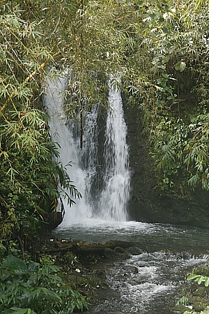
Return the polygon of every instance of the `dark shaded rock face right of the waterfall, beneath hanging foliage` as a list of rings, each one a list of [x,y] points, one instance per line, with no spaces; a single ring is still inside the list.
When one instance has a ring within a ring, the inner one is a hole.
[[[125,104],[125,100],[123,101]],[[130,219],[146,223],[172,223],[198,227],[209,226],[209,194],[200,190],[189,200],[157,190],[153,160],[143,132],[139,108],[123,105],[130,151]]]

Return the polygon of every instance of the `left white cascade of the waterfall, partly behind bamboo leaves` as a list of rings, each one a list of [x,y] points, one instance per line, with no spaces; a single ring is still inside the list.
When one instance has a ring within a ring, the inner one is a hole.
[[[68,121],[63,112],[63,92],[67,87],[68,79],[66,76],[59,78],[50,78],[45,82],[45,98],[44,103],[47,107],[47,113],[49,114],[49,126],[52,140],[59,144],[59,161],[63,163],[63,166],[68,165],[70,161],[73,163],[71,167],[68,167],[70,172],[70,179],[77,183],[79,192],[85,195],[85,173],[79,167],[77,160],[79,142],[72,137],[72,127],[68,124]],[[72,169],[71,169],[72,168]],[[68,221],[68,216],[72,221],[82,217],[91,217],[91,211],[86,204],[86,199],[83,197],[79,200],[79,207],[74,211],[68,210],[67,200],[63,200],[65,205],[65,216]],[[82,209],[82,210],[81,210]]]

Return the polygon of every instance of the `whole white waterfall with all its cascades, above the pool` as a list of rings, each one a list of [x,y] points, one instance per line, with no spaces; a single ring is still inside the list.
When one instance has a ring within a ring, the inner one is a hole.
[[[49,127],[53,142],[59,144],[59,161],[67,165],[70,179],[82,199],[68,208],[64,200],[65,218],[62,226],[88,218],[127,220],[127,200],[130,190],[128,170],[127,126],[123,117],[121,92],[109,82],[109,110],[105,135],[98,123],[99,106],[85,114],[83,148],[80,149],[79,125],[68,121],[63,111],[63,93],[68,77],[48,78],[45,82],[44,104],[49,114]],[[101,136],[100,136],[101,137]],[[102,142],[101,142],[102,141]],[[102,156],[102,157],[101,157]]]

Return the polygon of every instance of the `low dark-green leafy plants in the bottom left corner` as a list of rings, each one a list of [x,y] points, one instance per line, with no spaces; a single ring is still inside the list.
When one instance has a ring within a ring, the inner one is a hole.
[[[1,313],[70,314],[88,308],[88,300],[65,285],[52,264],[25,263],[8,255],[0,265]]]

